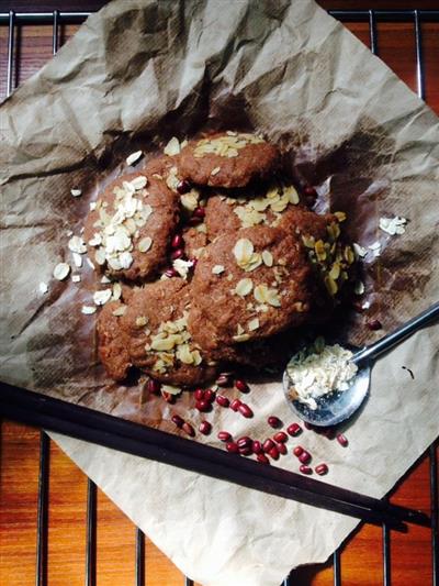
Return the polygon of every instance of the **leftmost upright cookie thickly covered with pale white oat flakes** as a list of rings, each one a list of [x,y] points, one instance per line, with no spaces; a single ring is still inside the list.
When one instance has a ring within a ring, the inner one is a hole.
[[[149,279],[166,264],[179,203],[164,179],[133,173],[108,186],[90,210],[83,237],[105,274]]]

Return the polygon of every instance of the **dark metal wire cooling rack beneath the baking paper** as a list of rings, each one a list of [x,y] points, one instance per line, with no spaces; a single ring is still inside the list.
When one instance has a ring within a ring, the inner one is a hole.
[[[60,27],[66,24],[81,23],[90,12],[14,12],[0,13],[0,25],[8,27],[7,52],[7,86],[9,96],[16,85],[16,73],[20,55],[16,51],[15,27],[32,24],[52,26],[52,48],[55,54],[60,45]],[[413,23],[416,49],[416,82],[419,98],[425,99],[426,75],[423,56],[423,24],[439,22],[439,10],[329,10],[329,14],[345,22],[369,23],[370,47],[372,53],[379,54],[379,22]],[[0,96],[2,98],[2,96]],[[439,526],[438,526],[438,463],[436,442],[428,449],[430,473],[430,512],[431,512],[431,581],[432,586],[439,586]],[[47,584],[47,535],[48,535],[48,482],[49,482],[49,438],[42,431],[40,439],[40,475],[37,498],[37,530],[36,530],[36,575],[35,586]],[[390,586],[391,577],[391,531],[383,524],[383,584]],[[86,527],[86,586],[97,583],[97,487],[89,479],[87,488],[87,527]],[[136,529],[135,542],[135,585],[145,586],[145,535]],[[342,584],[340,551],[333,555],[334,585]],[[184,578],[185,586],[193,586],[193,582]],[[293,579],[286,578],[282,586],[293,586]]]

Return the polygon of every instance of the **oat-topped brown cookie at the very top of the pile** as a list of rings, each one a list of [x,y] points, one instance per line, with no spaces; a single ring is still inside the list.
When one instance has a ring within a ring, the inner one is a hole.
[[[245,187],[277,169],[278,148],[256,134],[224,132],[191,141],[182,148],[183,179],[211,187]]]

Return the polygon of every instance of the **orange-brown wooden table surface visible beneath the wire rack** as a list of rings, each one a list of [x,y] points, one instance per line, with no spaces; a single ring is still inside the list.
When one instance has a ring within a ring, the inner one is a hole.
[[[104,2],[65,1],[35,4],[0,0],[0,12],[18,10],[63,10],[98,8]],[[439,8],[438,1],[361,2],[322,1],[324,8]],[[347,26],[365,44],[369,29],[363,23]],[[76,25],[61,30],[63,41]],[[7,27],[0,26],[0,97],[5,95]],[[18,33],[20,65],[16,82],[22,82],[52,56],[52,29],[26,25]],[[439,113],[439,24],[423,25],[426,100]],[[414,27],[408,23],[379,25],[379,53],[393,70],[416,90],[416,53]],[[36,504],[38,480],[40,432],[29,427],[3,421],[1,424],[0,475],[0,583],[27,586],[35,582]],[[85,583],[87,478],[50,443],[48,566],[49,586],[76,586]],[[412,471],[392,497],[392,501],[429,512],[428,458]],[[134,584],[135,528],[131,521],[98,491],[98,586]],[[146,576],[148,586],[182,585],[183,576],[166,556],[146,540]],[[430,532],[410,527],[408,534],[392,535],[392,584],[424,586],[431,584]],[[382,531],[362,527],[345,545],[341,554],[345,585],[381,584]],[[294,586],[333,584],[331,564],[299,568],[292,574]]]

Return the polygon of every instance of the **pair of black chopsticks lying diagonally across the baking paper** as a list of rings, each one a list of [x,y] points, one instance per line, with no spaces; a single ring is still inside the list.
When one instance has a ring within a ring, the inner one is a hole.
[[[404,521],[430,527],[423,512],[346,490],[191,440],[9,385],[0,390],[2,417],[405,531]]]

